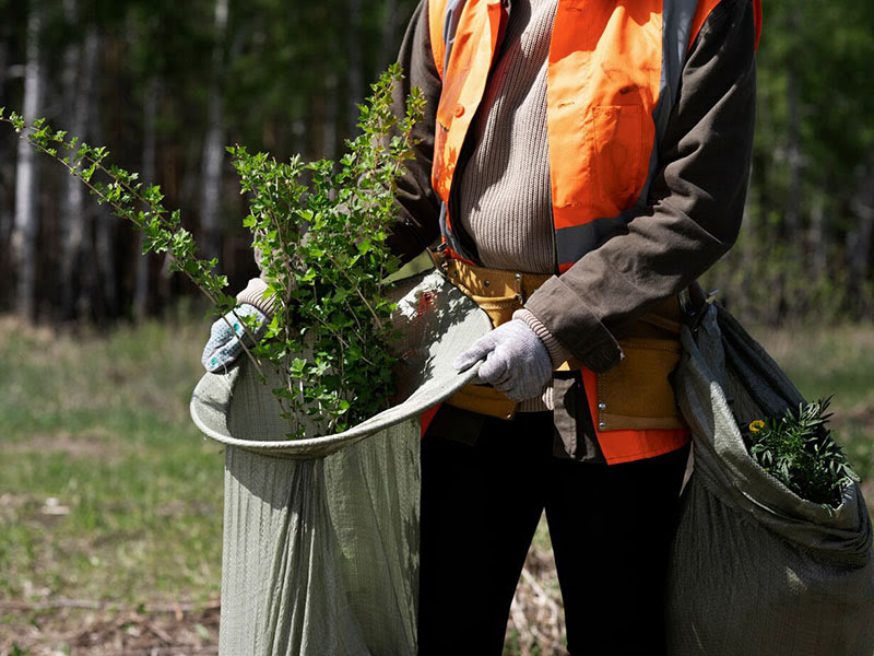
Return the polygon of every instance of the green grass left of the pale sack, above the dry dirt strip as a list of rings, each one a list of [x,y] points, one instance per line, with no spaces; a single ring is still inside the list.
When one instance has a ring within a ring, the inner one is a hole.
[[[223,455],[188,418],[205,332],[0,318],[0,604],[218,597]],[[0,654],[23,614],[0,606]]]

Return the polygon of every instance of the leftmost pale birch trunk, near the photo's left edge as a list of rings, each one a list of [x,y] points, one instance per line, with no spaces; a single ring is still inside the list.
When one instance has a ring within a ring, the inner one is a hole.
[[[39,61],[42,5],[31,4],[24,72],[24,118],[37,119],[43,104],[43,69]],[[12,234],[13,261],[17,272],[16,309],[25,318],[36,316],[36,238],[39,232],[36,152],[25,139],[19,141],[15,174],[15,222]]]

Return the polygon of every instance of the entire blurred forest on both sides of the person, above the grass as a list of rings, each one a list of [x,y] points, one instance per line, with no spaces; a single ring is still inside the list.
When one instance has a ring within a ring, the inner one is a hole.
[[[162,186],[237,289],[255,272],[224,147],[334,157],[412,0],[0,0],[0,106]],[[740,243],[707,278],[744,319],[874,317],[874,5],[765,2]],[[59,165],[0,130],[0,311],[158,313],[186,283]]]

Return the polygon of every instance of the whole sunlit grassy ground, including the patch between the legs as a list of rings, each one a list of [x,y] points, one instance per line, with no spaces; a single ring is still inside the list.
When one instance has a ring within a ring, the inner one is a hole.
[[[223,455],[188,415],[205,326],[0,317],[0,656],[217,653]],[[874,326],[754,335],[808,397],[835,394],[874,501]],[[507,655],[565,653],[545,525],[507,634]]]

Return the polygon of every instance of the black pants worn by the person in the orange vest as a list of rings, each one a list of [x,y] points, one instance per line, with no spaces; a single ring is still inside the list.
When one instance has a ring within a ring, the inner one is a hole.
[[[551,412],[486,420],[473,446],[422,444],[420,655],[499,655],[544,508],[568,649],[658,656],[688,455],[607,466],[553,456]]]

